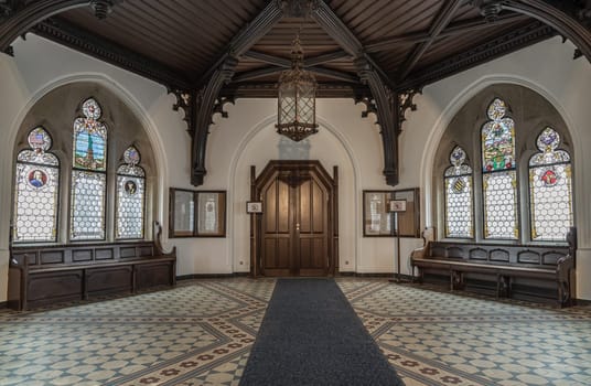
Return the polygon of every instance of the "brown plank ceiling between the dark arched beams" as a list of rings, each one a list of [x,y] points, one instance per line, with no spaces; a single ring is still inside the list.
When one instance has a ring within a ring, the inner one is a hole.
[[[106,19],[75,8],[33,31],[152,78],[171,88],[198,88],[229,55],[229,44],[270,1],[116,0]],[[395,90],[417,89],[471,66],[552,36],[535,19],[502,11],[486,21],[468,0],[324,0],[364,55]],[[313,18],[283,17],[244,54],[227,89],[266,96],[289,66],[296,34],[307,67],[322,88],[363,87],[355,58]],[[258,94],[257,94],[258,93]],[[322,94],[322,93],[321,93]],[[333,93],[334,94],[334,93]]]

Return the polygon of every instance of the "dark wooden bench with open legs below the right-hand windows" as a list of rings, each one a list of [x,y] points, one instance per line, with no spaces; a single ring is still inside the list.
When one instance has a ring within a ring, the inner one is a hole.
[[[449,280],[451,291],[470,283],[493,290],[497,298],[514,297],[519,287],[518,294],[527,300],[549,294],[559,307],[572,304],[576,228],[567,236],[568,246],[434,242],[432,235],[426,229],[423,247],[410,255],[412,277],[417,268],[420,282],[439,276]]]

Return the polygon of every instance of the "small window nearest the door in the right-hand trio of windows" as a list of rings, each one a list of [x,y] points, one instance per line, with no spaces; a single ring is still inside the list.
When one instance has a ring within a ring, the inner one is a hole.
[[[445,237],[474,237],[472,205],[472,168],[465,164],[465,151],[456,146],[451,167],[445,170]]]

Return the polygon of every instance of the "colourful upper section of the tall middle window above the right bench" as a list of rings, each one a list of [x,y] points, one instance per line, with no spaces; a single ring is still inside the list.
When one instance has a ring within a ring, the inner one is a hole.
[[[488,106],[491,119],[482,128],[482,168],[484,172],[515,169],[515,121],[505,117],[507,107],[498,98]]]

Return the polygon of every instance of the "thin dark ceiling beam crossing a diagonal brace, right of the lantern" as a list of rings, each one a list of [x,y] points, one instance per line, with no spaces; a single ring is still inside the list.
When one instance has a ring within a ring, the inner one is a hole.
[[[525,20],[525,17],[522,14],[514,13],[499,15],[493,22],[487,22],[483,18],[463,20],[460,22],[450,23],[443,31],[441,31],[441,33],[438,35],[438,39],[449,37],[461,33],[477,32],[482,29],[497,26],[506,23],[513,23],[520,20]],[[400,44],[422,43],[428,41],[429,39],[431,39],[429,31],[405,33],[398,36],[387,36],[372,42],[367,42],[367,44],[365,45],[365,51],[368,53],[387,51],[393,46],[397,46]]]

